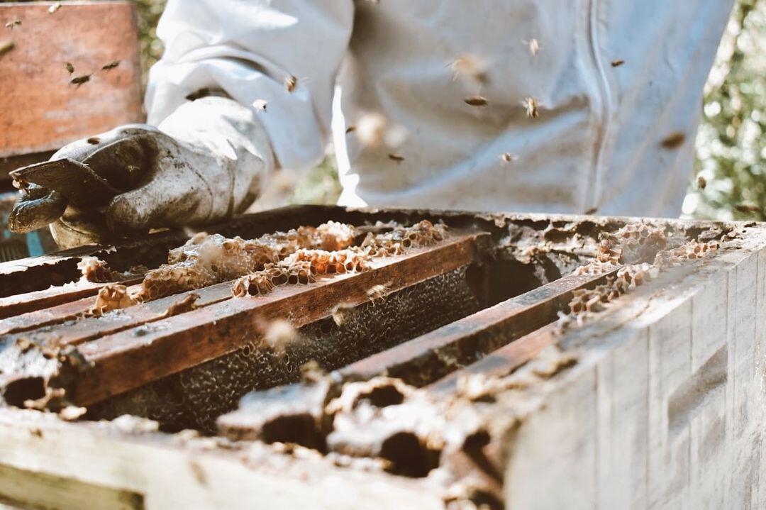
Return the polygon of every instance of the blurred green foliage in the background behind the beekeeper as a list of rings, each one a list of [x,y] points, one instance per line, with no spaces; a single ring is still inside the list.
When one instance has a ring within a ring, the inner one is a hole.
[[[147,70],[162,55],[155,27],[165,0],[135,2]],[[766,0],[737,0],[702,104],[684,215],[766,220]],[[290,201],[334,203],[339,192],[330,156],[298,183]]]

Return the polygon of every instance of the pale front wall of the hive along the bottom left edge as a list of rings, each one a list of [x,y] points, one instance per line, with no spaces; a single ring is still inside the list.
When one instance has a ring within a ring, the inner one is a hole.
[[[440,495],[420,480],[337,468],[319,456],[280,456],[257,443],[230,443],[228,448],[211,443],[211,438],[181,440],[171,434],[106,423],[64,423],[51,414],[0,409],[0,464],[133,492],[143,496],[147,510],[444,508]],[[51,495],[37,480],[30,485],[25,503]],[[80,490],[68,497],[84,495]],[[76,508],[102,508],[98,503]]]

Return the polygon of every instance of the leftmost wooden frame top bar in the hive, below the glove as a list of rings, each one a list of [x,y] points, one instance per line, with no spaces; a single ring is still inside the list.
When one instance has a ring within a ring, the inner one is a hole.
[[[135,276],[128,280],[120,280],[115,283],[133,285],[141,280],[143,280],[143,276]],[[87,296],[95,296],[99,289],[105,285],[106,283],[93,283],[87,280],[80,280],[64,286],[51,287],[45,290],[0,298],[0,319],[77,301]],[[83,310],[84,309],[80,311]],[[0,334],[2,334],[2,329],[3,325],[2,321],[0,321]]]

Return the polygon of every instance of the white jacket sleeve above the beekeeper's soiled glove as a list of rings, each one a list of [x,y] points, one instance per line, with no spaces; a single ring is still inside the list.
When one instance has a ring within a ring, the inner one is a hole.
[[[165,54],[149,72],[148,123],[159,125],[182,105],[194,110],[191,94],[222,90],[249,109],[266,102],[251,116],[262,128],[234,129],[245,136],[265,130],[277,165],[316,164],[353,15],[352,0],[169,0],[157,28]],[[291,77],[297,81],[288,90]],[[211,126],[209,114],[196,121],[187,111],[187,129]]]

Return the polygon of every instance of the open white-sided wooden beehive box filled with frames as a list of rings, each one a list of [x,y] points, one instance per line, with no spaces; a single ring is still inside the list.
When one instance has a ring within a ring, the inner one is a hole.
[[[117,270],[157,266],[185,240],[181,233],[0,264],[0,386],[17,404],[0,409],[0,501],[29,508],[766,505],[766,225],[305,206],[210,230],[250,238],[329,220],[377,231],[377,221],[422,219],[444,221],[449,235],[375,260],[365,272],[266,296],[231,298],[222,290],[230,287],[209,286],[198,291],[198,309],[173,316],[163,314],[178,295],[83,318],[77,312],[103,283],[61,285],[77,280],[76,263],[89,253]],[[639,244],[636,253],[654,261],[645,267],[652,277],[572,315],[577,299],[624,274],[625,250],[617,266],[588,263],[611,257],[604,240],[635,225],[663,232],[662,246],[683,246],[685,260],[656,262],[664,259]],[[583,265],[591,270],[577,269]],[[385,296],[368,292],[376,284]],[[336,322],[340,304],[357,319]],[[299,328],[301,342],[277,352],[260,323],[280,317]],[[71,378],[43,382],[87,414],[70,423],[66,412],[18,408],[43,372],[13,365],[8,352],[34,356],[41,345],[67,343],[82,365]],[[300,378],[309,358],[331,370],[329,378],[284,385]],[[419,389],[401,389],[400,401],[386,383],[359,407],[336,402],[335,421],[323,421],[332,406],[316,407],[318,391],[340,387],[345,395],[381,374]],[[362,410],[372,418],[348,421]],[[123,413],[159,423],[117,417]],[[430,443],[417,427],[397,428],[413,416],[419,427],[435,425]],[[357,425],[344,431],[341,418]],[[178,432],[184,428],[209,435]],[[455,443],[442,429],[472,432]],[[381,437],[388,450],[375,450]]]

